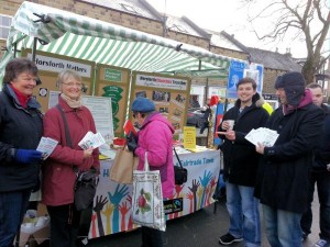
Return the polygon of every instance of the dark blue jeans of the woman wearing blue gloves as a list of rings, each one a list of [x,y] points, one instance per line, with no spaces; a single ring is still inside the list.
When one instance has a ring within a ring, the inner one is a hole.
[[[0,193],[0,247],[11,247],[25,215],[31,190]]]

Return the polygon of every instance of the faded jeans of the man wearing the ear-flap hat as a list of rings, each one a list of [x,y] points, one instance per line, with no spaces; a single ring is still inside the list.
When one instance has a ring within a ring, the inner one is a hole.
[[[265,233],[272,247],[301,247],[301,214],[263,204]]]

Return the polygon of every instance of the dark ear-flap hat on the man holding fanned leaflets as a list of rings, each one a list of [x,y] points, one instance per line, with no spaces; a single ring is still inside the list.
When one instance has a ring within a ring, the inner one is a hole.
[[[283,88],[288,104],[297,106],[305,92],[305,78],[301,72],[286,72],[278,76],[275,81],[275,89]]]

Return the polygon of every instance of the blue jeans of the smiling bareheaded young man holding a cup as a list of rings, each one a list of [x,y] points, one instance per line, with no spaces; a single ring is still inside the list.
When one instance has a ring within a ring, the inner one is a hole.
[[[243,237],[246,247],[261,246],[258,201],[253,197],[253,187],[226,182],[227,210],[230,216],[229,233]]]

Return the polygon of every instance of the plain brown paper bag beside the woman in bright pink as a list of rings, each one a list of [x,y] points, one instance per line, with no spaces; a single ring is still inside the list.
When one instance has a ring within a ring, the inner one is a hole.
[[[110,179],[118,183],[132,183],[133,170],[138,167],[139,159],[125,146],[117,149],[110,171]]]

